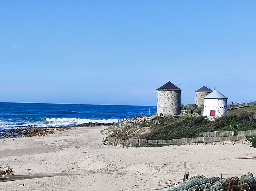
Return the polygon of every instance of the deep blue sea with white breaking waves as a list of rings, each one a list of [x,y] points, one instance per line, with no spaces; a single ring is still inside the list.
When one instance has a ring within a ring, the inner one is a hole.
[[[141,114],[154,106],[1,103],[0,129],[65,127],[88,122],[112,123]],[[156,109],[150,109],[152,114]]]

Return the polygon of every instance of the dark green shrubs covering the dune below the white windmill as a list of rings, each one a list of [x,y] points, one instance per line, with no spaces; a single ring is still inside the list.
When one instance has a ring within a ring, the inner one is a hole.
[[[158,121],[171,122],[166,127],[153,126],[151,131],[141,136],[145,139],[176,139],[185,137],[197,137],[198,132],[228,131],[234,130],[237,135],[237,124],[239,130],[256,129],[256,114],[245,111],[232,111],[227,116],[220,117],[215,121],[207,121],[204,117],[179,117],[176,119],[158,117]],[[168,123],[168,122],[167,122]],[[231,127],[230,127],[231,125]]]

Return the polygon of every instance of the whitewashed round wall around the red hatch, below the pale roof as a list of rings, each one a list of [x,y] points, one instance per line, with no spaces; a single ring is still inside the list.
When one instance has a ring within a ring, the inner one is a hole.
[[[210,116],[210,110],[215,110],[215,116]],[[204,99],[204,116],[213,121],[227,115],[227,99]]]

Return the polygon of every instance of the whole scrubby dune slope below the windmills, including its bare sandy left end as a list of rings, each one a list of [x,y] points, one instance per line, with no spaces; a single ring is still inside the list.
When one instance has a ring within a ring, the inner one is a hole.
[[[154,120],[166,122],[166,127],[153,125],[151,120],[140,125],[124,128],[116,135],[123,140],[130,138],[145,139],[176,139],[186,137],[197,137],[198,132],[229,131],[233,130],[237,135],[238,130],[256,129],[256,113],[248,112],[256,110],[256,107],[245,107],[241,110],[229,110],[227,116],[223,116],[215,121],[207,121],[204,117],[155,117]],[[138,117],[138,116],[137,116]],[[141,117],[141,116],[140,116]],[[143,116],[142,116],[143,117]],[[131,118],[134,120],[136,117]],[[137,119],[137,118],[136,118]],[[240,128],[234,128],[240,124]],[[231,126],[231,127],[230,127]]]

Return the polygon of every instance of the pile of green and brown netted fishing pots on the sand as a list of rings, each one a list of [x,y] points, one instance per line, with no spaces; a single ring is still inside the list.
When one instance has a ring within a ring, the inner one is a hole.
[[[256,191],[256,181],[252,173],[238,177],[219,178],[217,176],[193,176],[189,181],[181,182],[168,191]]]

